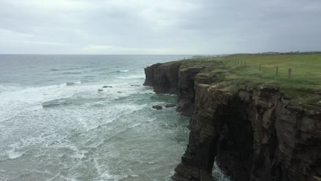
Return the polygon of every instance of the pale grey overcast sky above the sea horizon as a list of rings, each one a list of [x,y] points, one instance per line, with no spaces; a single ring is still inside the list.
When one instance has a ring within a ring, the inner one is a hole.
[[[0,53],[320,50],[320,0],[0,0]]]

